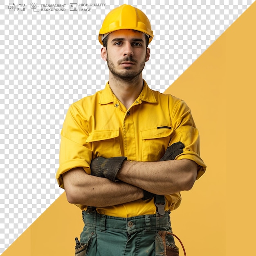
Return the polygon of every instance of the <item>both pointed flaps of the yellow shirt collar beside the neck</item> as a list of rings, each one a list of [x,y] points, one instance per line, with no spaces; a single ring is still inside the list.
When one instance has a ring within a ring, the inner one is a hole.
[[[153,90],[151,90],[148,87],[148,84],[146,83],[146,81],[144,79],[143,79],[143,88],[142,88],[141,93],[139,94],[138,100],[146,101],[148,103],[157,102],[155,99]],[[108,104],[108,103],[111,103],[114,101],[117,101],[117,98],[115,97],[115,94],[112,92],[112,90],[107,82],[106,87],[102,91],[101,99],[100,99],[99,103],[104,105],[104,104]]]

